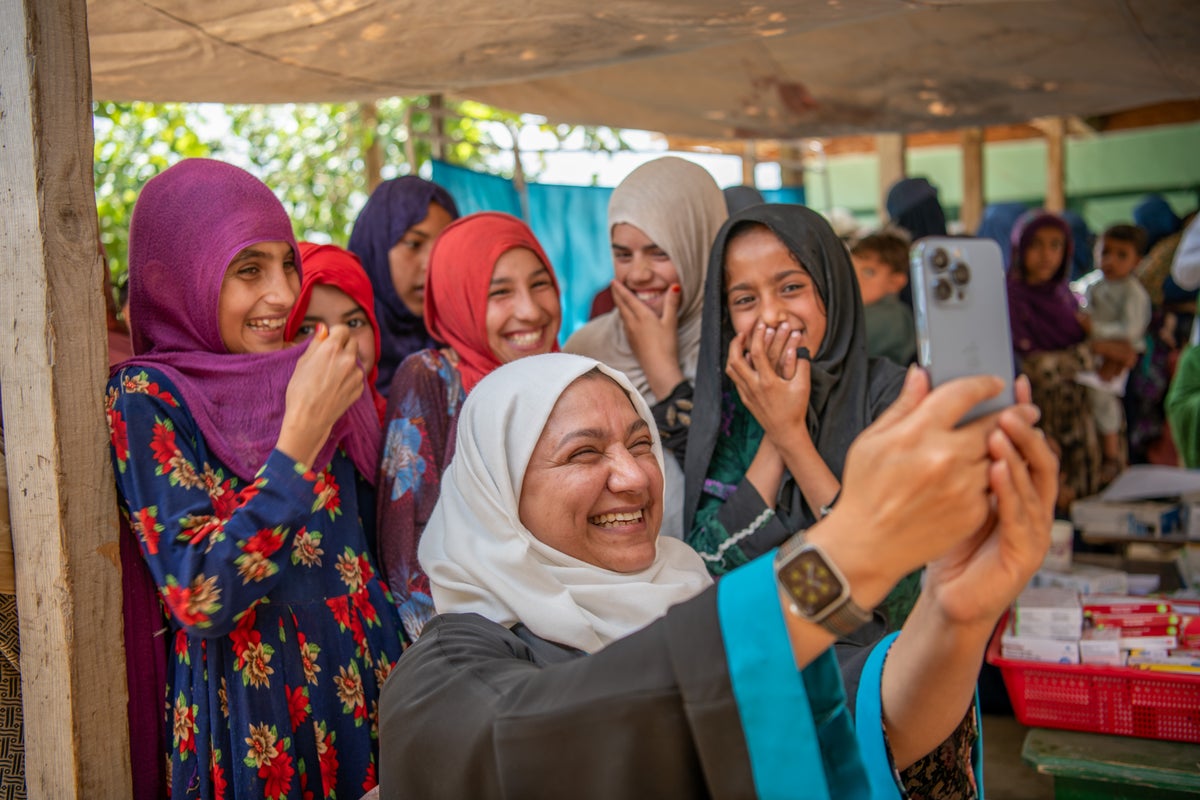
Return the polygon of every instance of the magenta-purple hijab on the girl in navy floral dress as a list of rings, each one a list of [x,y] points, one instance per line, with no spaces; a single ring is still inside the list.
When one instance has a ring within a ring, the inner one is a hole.
[[[232,164],[188,158],[151,179],[130,224],[133,351],[121,366],[155,367],[179,389],[209,449],[252,480],[275,449],[284,392],[304,347],[233,354],[221,339],[217,306],[226,267],[241,249],[286,241],[292,222],[271,190]],[[374,482],[382,433],[371,393],[334,426],[317,464],[341,446]]]

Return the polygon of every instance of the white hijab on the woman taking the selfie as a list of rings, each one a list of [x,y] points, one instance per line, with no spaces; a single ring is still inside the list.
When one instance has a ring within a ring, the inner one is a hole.
[[[544,639],[595,652],[712,583],[678,540],[660,537],[649,567],[620,573],[560,553],[521,523],[521,483],[542,428],[559,395],[595,367],[630,395],[654,432],[661,468],[650,410],[619,372],[565,353],[493,371],[458,415],[457,450],[418,552],[438,613],[474,612],[505,627],[523,622]]]

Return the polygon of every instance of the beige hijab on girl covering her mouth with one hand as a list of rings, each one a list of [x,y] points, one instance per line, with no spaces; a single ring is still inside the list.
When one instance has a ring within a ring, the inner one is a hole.
[[[695,380],[700,357],[708,253],[728,216],[713,176],[700,164],[674,156],[631,172],[608,200],[608,233],[620,223],[634,225],[671,257],[679,273],[679,366],[688,380]],[[662,399],[650,391],[616,308],[576,331],[564,349],[624,372],[647,402]]]

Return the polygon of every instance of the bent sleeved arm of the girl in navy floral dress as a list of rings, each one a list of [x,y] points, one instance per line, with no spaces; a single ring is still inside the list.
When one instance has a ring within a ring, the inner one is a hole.
[[[329,476],[276,450],[238,486],[204,458],[194,421],[156,371],[122,369],[106,409],[121,509],[170,614],[192,634],[228,633],[289,569],[292,536]]]

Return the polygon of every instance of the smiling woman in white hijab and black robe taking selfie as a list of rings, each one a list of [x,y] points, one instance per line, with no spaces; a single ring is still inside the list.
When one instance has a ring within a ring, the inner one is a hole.
[[[1027,404],[955,427],[998,391],[912,371],[838,509],[713,587],[658,536],[662,447],[624,375],[498,368],[421,543],[439,615],[384,688],[380,796],[971,796],[976,678],[1046,549],[1056,473]],[[925,564],[899,636],[835,656]]]

